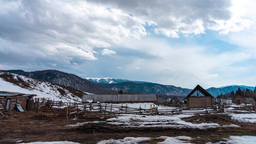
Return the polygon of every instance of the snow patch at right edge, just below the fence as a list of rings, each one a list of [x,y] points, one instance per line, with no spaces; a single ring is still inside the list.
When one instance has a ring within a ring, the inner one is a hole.
[[[231,116],[231,120],[242,123],[256,123],[256,113],[226,113]]]

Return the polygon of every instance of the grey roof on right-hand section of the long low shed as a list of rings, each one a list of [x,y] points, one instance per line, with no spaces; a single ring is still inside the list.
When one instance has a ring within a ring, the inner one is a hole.
[[[156,94],[118,94],[118,102],[157,101]]]

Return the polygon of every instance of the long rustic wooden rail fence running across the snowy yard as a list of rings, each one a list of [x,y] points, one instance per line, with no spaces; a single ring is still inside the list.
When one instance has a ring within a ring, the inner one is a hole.
[[[219,113],[228,111],[247,111],[250,113],[256,113],[255,105],[251,106],[241,106],[233,107],[230,105],[209,105],[200,107],[150,107],[149,109],[142,108],[132,108],[127,106],[127,104],[116,105],[112,103],[71,103],[71,102],[61,102],[61,101],[48,101],[46,104],[50,108],[52,107],[67,107],[67,119],[70,119],[71,115],[78,118],[78,115],[86,116],[88,113],[101,112],[108,114],[141,114],[141,115],[175,115],[181,113]],[[231,108],[231,109],[229,109]]]

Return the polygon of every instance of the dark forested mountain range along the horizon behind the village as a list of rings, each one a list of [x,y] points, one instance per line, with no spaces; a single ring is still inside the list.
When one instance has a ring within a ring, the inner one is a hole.
[[[187,96],[192,89],[176,87],[173,85],[161,85],[151,82],[133,81],[119,78],[81,78],[74,74],[69,74],[57,70],[43,70],[25,72],[23,70],[7,70],[4,72],[15,73],[30,77],[37,80],[43,80],[49,83],[71,87],[83,92],[94,94],[115,94],[117,90],[123,90],[131,93],[155,93],[159,95],[176,95]],[[242,90],[248,88],[254,90],[250,86],[230,85],[219,88],[206,89],[210,94],[216,97],[219,94],[229,93],[238,88]]]

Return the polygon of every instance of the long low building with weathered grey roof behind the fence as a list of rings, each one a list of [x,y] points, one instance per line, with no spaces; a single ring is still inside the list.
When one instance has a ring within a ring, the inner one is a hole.
[[[156,94],[84,94],[82,102],[86,103],[87,100],[93,103],[157,103]]]

